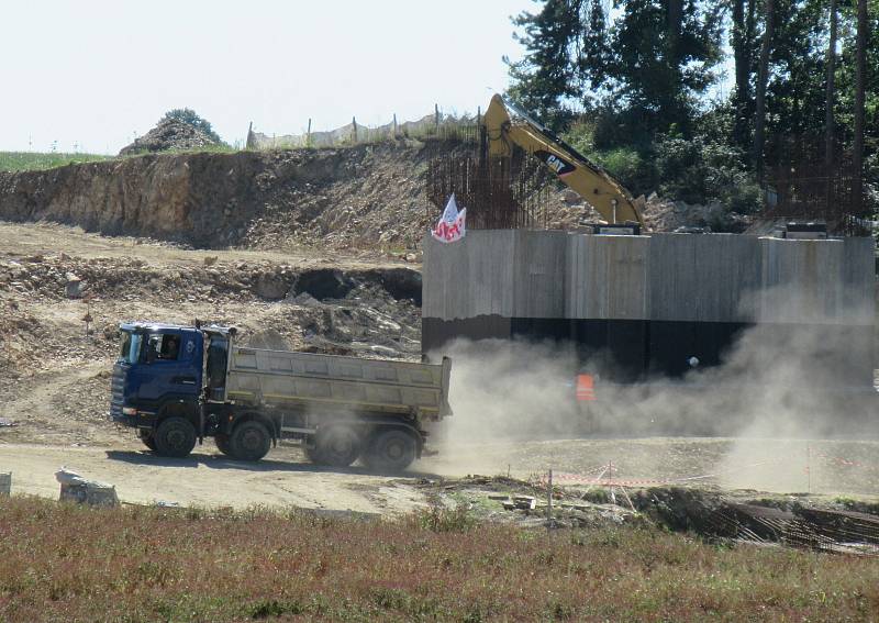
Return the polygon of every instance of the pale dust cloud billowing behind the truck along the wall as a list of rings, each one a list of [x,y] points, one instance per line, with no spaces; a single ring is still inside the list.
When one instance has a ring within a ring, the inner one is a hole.
[[[557,343],[457,341],[450,403],[454,418],[438,436],[479,465],[480,444],[535,440],[686,436],[723,437],[715,482],[730,488],[805,491],[822,483],[809,472],[823,455],[859,456],[879,464],[872,382],[872,310],[846,309],[841,324],[783,291],[774,294],[775,322],[744,330],[721,365],[696,366],[682,378],[648,377],[635,385],[596,381],[597,400],[578,403],[575,374],[589,368]],[[793,322],[794,320],[799,322]],[[831,322],[832,321],[832,322]],[[861,369],[863,368],[863,369]],[[461,460],[467,460],[464,457]],[[639,465],[667,475],[666,457]],[[833,485],[843,490],[839,482]],[[828,485],[830,486],[830,485]]]

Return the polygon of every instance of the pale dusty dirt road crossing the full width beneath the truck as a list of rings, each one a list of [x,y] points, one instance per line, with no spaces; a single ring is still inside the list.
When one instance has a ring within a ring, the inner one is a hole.
[[[168,459],[115,433],[116,441],[101,448],[0,444],[0,471],[13,472],[14,492],[53,498],[58,494],[54,472],[65,466],[115,485],[120,499],[131,503],[296,505],[382,515],[426,505],[420,486],[425,478],[509,472],[530,479],[553,468],[564,487],[588,483],[599,475],[607,478],[609,465],[613,481],[632,488],[667,483],[879,496],[876,442],[656,437],[458,444],[441,447],[438,455],[415,463],[405,474],[381,475],[357,466],[313,466],[296,446],[275,448],[258,464],[242,464],[218,454],[208,441],[189,458]]]

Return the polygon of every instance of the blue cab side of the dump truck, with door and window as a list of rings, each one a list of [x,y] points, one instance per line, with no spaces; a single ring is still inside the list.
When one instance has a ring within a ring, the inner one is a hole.
[[[198,404],[201,390],[201,336],[180,331],[147,335],[137,401],[158,411],[168,401]]]

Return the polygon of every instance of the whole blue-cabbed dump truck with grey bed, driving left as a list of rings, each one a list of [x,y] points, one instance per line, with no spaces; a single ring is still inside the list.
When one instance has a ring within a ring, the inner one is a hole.
[[[360,459],[401,470],[425,452],[425,424],[450,415],[452,361],[420,364],[235,344],[235,330],[120,325],[110,419],[162,456],[213,437],[223,454],[259,460],[299,440],[310,460]]]

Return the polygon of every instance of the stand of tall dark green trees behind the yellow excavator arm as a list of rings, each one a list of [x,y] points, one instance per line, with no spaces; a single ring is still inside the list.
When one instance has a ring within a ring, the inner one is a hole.
[[[634,192],[755,211],[809,165],[875,210],[879,0],[536,2],[508,96]]]

